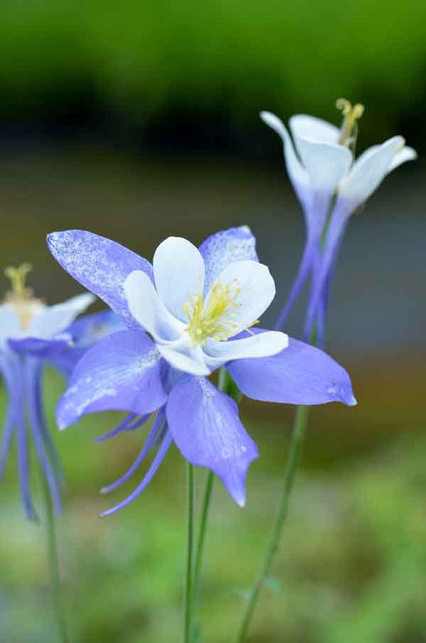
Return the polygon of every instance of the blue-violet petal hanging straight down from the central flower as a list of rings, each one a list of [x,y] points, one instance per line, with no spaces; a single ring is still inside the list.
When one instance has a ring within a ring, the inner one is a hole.
[[[239,420],[234,400],[206,378],[183,375],[170,392],[167,419],[182,456],[214,471],[244,507],[246,473],[258,450]]]

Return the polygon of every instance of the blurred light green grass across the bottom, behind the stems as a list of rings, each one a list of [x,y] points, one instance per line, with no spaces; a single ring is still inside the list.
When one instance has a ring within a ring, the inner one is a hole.
[[[49,372],[47,388],[53,426],[63,383]],[[1,400],[0,409],[4,392]],[[386,436],[373,399],[364,397],[363,402],[368,432],[359,432],[364,448],[358,452],[350,435],[360,420],[351,420],[357,409],[327,405],[312,413],[305,467],[275,560],[273,576],[280,583],[271,586],[278,592],[264,592],[253,643],[426,640],[426,440],[413,430],[415,410],[405,417],[405,433]],[[277,411],[272,417],[271,408]],[[244,512],[217,483],[200,609],[205,643],[232,639],[244,600],[241,593],[249,586],[263,547],[293,414],[289,407],[283,412],[279,408],[245,404],[241,410],[261,452],[249,474]],[[94,415],[55,434],[68,480],[59,528],[70,621],[80,642],[166,642],[178,638],[180,628],[182,459],[174,450],[141,498],[99,520],[99,512],[124,498],[135,484],[117,490],[113,498],[97,495],[98,488],[129,466],[143,440],[142,429],[94,444],[91,438],[118,418],[119,414]],[[334,454],[330,468],[321,454],[329,449],[333,434],[341,444],[349,439],[349,446]],[[23,518],[16,475],[10,463],[0,488],[0,640],[53,643],[43,527]],[[200,483],[202,478],[200,470]]]

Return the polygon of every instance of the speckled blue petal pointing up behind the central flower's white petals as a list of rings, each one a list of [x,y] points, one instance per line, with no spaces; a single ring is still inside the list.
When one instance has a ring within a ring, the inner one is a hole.
[[[208,292],[216,277],[235,261],[258,261],[256,238],[248,226],[229,228],[207,237],[200,246],[205,264],[204,292]]]

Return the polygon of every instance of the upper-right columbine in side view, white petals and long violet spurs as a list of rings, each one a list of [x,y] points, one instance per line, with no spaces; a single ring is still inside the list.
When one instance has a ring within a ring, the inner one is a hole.
[[[288,176],[302,204],[307,229],[305,252],[277,328],[283,326],[312,271],[312,295],[305,337],[309,336],[317,315],[320,343],[329,280],[349,217],[373,194],[389,172],[416,158],[415,150],[405,145],[403,137],[394,136],[381,145],[368,148],[355,160],[357,123],[364,113],[364,106],[351,106],[349,101],[339,99],[337,107],[344,115],[340,129],[314,116],[292,116],[289,125],[293,141],[277,116],[261,112],[263,121],[283,140]],[[320,242],[328,215],[327,238],[320,256]]]

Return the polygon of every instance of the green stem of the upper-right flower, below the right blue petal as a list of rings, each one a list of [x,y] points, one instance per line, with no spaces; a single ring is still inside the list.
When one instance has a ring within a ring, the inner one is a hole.
[[[246,610],[244,611],[244,617],[241,622],[238,637],[236,639],[237,643],[244,643],[244,641],[246,640],[246,636],[249,632],[249,627],[251,624],[251,619],[253,617],[253,612],[256,609],[263,583],[266,578],[268,578],[269,572],[271,571],[273,556],[275,555],[275,552],[277,551],[278,545],[280,543],[281,534],[283,533],[283,527],[285,524],[285,518],[288,514],[290,495],[295,482],[295,474],[300,463],[300,457],[302,455],[302,446],[305,439],[308,414],[309,412],[307,407],[297,407],[295,424],[293,427],[293,434],[290,443],[290,451],[285,466],[283,493],[280,498],[280,504],[278,505],[278,512],[273,524],[271,537],[266,548],[266,554],[256,581],[253,585],[253,588],[251,589],[249,602],[246,605]]]

